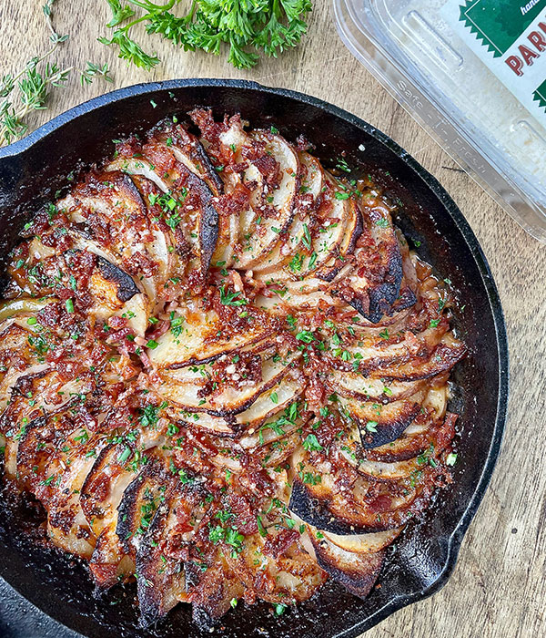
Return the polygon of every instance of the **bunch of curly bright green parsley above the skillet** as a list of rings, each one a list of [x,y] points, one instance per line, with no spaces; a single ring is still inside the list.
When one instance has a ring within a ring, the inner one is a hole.
[[[130,36],[134,26],[145,23],[148,34],[159,34],[186,51],[201,49],[219,55],[222,44],[229,47],[227,61],[234,67],[254,67],[263,50],[277,57],[297,46],[306,33],[305,17],[311,0],[193,0],[187,15],[175,15],[180,0],[157,5],[150,0],[106,0],[116,28],[110,37],[99,37],[106,46],[117,46],[118,56],[147,70],[156,67],[156,54],[148,54]],[[133,8],[135,7],[135,8]],[[144,13],[136,15],[136,10]]]

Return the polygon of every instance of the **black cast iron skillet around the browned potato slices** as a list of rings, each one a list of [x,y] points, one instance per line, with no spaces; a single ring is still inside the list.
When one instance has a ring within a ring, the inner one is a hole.
[[[40,201],[66,188],[77,170],[114,150],[112,139],[148,129],[160,118],[211,106],[217,118],[241,112],[254,127],[274,125],[288,139],[303,133],[327,166],[347,151],[354,177],[372,172],[401,212],[396,222],[417,251],[459,291],[464,312],[455,317],[470,355],[457,366],[450,408],[460,413],[459,460],[454,482],[407,530],[365,601],[327,584],[311,601],[275,617],[270,605],[240,605],[227,614],[222,636],[299,638],[356,636],[410,602],[437,592],[450,577],[460,543],[490,481],[501,446],[508,398],[508,350],[501,302],[490,268],[455,203],[426,170],[386,135],[317,98],[253,82],[173,80],[128,87],[73,108],[28,138],[0,150],[0,255]],[[3,501],[4,502],[4,501]],[[35,547],[19,529],[26,512],[4,504],[0,515],[0,575],[56,621],[86,636],[187,636],[199,633],[189,609],[178,605],[151,632],[136,629],[135,592],[92,596],[86,568],[55,551]],[[22,522],[23,521],[23,522]],[[115,602],[115,604],[113,604]],[[21,634],[23,635],[23,634]]]

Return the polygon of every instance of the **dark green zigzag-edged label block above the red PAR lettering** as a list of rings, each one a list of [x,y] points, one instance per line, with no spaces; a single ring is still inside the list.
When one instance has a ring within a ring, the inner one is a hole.
[[[527,4],[513,0],[466,0],[460,5],[460,21],[487,46],[493,57],[501,57],[546,7],[546,0]]]

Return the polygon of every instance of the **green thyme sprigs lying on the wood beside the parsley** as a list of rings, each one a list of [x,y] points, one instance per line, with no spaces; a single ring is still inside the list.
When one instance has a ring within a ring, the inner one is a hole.
[[[82,86],[92,82],[95,77],[103,77],[107,82],[113,81],[107,64],[99,67],[87,62],[86,68],[78,69],[59,67],[56,62],[49,61],[57,48],[68,40],[67,35],[57,33],[53,24],[55,2],[56,0],[45,0],[42,7],[51,46],[45,53],[32,57],[18,73],[6,74],[0,80],[0,98],[4,98],[0,102],[0,146],[25,136],[28,131],[25,118],[35,110],[45,109],[51,89],[65,87],[72,71],[79,74]]]

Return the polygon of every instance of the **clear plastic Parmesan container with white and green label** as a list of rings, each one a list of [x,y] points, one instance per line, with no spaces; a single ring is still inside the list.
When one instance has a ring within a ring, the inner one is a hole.
[[[522,84],[532,84],[537,74],[546,80],[546,47],[540,50],[546,0],[521,5],[526,3],[334,0],[334,13],[353,55],[505,211],[546,243],[546,98],[539,85],[531,95]],[[497,50],[480,19],[492,11],[497,28],[503,15],[494,12],[514,7],[521,24],[514,15],[505,25],[508,36],[517,36],[520,27],[518,37],[535,35],[523,49],[519,39],[509,50]]]

